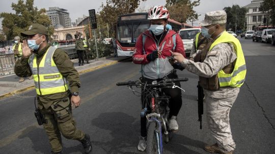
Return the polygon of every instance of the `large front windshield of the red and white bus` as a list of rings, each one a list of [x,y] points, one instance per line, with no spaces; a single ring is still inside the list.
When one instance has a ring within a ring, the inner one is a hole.
[[[135,43],[137,37],[149,28],[145,21],[133,21],[118,23],[117,39],[121,43]]]

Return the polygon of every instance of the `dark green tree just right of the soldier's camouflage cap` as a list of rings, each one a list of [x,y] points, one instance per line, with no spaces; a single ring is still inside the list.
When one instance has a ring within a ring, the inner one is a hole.
[[[231,28],[233,29],[232,31],[234,32],[236,28],[237,28],[237,31],[245,29],[246,8],[240,7],[239,5],[233,5],[232,7],[225,7],[224,11],[227,13],[226,29]],[[237,34],[237,32],[235,33]]]

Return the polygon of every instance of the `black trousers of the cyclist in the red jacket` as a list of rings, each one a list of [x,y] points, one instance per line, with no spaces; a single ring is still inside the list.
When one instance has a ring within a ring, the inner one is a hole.
[[[170,73],[169,75],[167,75],[168,78],[172,79],[172,78],[178,78],[178,75],[176,72],[174,73]],[[159,79],[161,80],[161,79]],[[148,78],[143,78],[142,82],[148,82],[148,83],[152,83],[152,79],[148,79]],[[175,82],[175,85],[180,87],[180,82]],[[171,98],[169,99],[169,108],[170,108],[170,113],[169,113],[169,118],[171,118],[172,116],[177,116],[179,114],[180,108],[182,106],[182,99],[181,99],[181,89],[179,88],[163,88],[162,91],[164,92],[165,95],[170,96]],[[144,101],[144,96],[142,95],[141,97],[142,99],[142,109],[144,109],[145,107],[148,108],[148,106],[146,106],[146,101]],[[149,100],[148,100],[149,101]],[[150,108],[150,107],[149,107]],[[141,136],[142,137],[146,137],[147,136],[147,129],[146,129],[146,117],[141,117]]]

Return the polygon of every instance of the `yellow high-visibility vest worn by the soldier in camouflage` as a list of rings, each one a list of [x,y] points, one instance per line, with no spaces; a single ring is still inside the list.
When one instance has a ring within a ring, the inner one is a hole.
[[[233,35],[224,32],[219,38],[217,38],[213,42],[213,44],[210,46],[209,51],[219,43],[231,43],[234,46],[237,55],[234,70],[231,74],[226,74],[223,70],[218,72],[219,86],[240,87],[244,83],[246,74],[246,65],[241,44],[239,40],[236,39]]]

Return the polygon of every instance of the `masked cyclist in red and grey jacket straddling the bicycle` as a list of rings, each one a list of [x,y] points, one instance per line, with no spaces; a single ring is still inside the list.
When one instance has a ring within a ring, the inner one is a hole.
[[[179,65],[171,65],[167,57],[172,52],[179,52],[184,57],[185,52],[180,36],[174,30],[167,28],[169,18],[168,10],[163,6],[155,6],[150,9],[148,19],[150,28],[137,38],[135,51],[132,59],[133,63],[142,65],[142,81],[151,83],[154,80],[162,78],[178,78],[176,70]],[[180,83],[176,82],[180,87]],[[164,93],[170,96],[169,108],[169,130],[177,131],[177,115],[182,105],[181,90],[179,88],[164,88]],[[143,99],[142,99],[143,100]],[[142,103],[142,108],[146,104]],[[146,149],[146,117],[141,117],[141,137],[137,149],[144,151]]]

